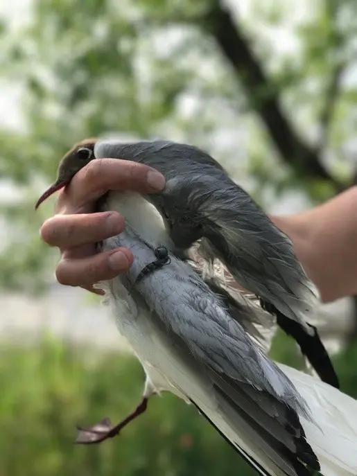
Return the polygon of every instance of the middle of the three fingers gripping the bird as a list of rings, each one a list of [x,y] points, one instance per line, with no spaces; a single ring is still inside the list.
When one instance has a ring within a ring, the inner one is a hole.
[[[116,236],[124,224],[124,218],[116,212],[55,215],[44,222],[40,233],[49,245],[70,249]]]

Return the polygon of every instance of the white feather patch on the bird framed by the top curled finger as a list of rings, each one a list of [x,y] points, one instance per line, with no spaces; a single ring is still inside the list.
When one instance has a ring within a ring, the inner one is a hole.
[[[162,215],[139,193],[111,191],[104,208],[121,213],[125,222],[153,247],[163,245],[167,249],[173,249]]]

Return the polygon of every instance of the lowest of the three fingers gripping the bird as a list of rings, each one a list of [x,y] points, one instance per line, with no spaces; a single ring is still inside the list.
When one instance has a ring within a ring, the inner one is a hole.
[[[132,253],[126,248],[85,258],[68,258],[64,252],[56,267],[55,276],[60,284],[93,290],[94,283],[112,279],[119,273],[128,271],[133,259]]]

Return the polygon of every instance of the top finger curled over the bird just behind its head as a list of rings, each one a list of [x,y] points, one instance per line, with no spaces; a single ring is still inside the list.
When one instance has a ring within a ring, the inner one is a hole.
[[[143,164],[121,159],[94,159],[60,194],[57,209],[59,213],[78,213],[85,204],[108,190],[155,193],[162,190],[164,184],[162,174]]]

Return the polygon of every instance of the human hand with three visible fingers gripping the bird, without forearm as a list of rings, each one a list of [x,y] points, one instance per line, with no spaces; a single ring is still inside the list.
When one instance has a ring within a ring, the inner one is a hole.
[[[55,269],[58,282],[103,294],[93,284],[127,271],[134,257],[123,247],[96,252],[97,242],[116,236],[125,227],[120,213],[92,213],[96,200],[109,190],[155,193],[164,184],[164,176],[157,170],[132,161],[95,159],[82,168],[60,191],[56,214],[40,229],[42,239],[60,249]]]

